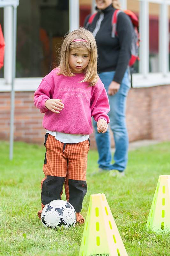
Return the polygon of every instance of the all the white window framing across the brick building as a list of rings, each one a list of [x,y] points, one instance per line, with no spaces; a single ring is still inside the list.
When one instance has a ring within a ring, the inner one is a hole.
[[[139,51],[139,74],[133,75],[133,87],[152,87],[170,84],[169,72],[169,28],[168,28],[168,5],[170,0],[135,0],[140,2],[139,22],[140,22],[140,51]],[[127,0],[120,0],[122,8],[127,8]],[[94,5],[94,0],[92,0]],[[149,3],[160,4],[159,14],[159,73],[149,73]],[[11,15],[10,7],[4,10],[4,36],[6,42],[11,42]],[[94,6],[92,6],[92,12]],[[70,0],[70,31],[79,28],[79,0]],[[11,90],[11,68],[12,62],[11,44],[6,44],[6,56],[4,61],[4,78],[0,79],[0,91],[8,92]],[[8,56],[8,57],[7,57]],[[8,60],[7,60],[8,59]],[[163,63],[163,65],[161,65]],[[16,78],[15,91],[35,91],[42,78]]]

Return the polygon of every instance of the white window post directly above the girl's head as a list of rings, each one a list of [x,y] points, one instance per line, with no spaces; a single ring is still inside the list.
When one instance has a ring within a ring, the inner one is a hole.
[[[79,28],[79,0],[69,2],[70,32]]]

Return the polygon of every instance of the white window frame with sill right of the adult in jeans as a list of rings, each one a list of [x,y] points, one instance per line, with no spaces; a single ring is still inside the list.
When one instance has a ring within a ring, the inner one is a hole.
[[[139,0],[136,0],[139,1]],[[160,4],[159,13],[159,73],[149,73],[149,3]],[[170,0],[140,0],[139,74],[133,75],[134,87],[170,84],[169,72],[169,18]]]

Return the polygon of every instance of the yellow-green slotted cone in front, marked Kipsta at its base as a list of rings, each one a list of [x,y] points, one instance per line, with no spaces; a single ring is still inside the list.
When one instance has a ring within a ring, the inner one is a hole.
[[[105,194],[90,196],[79,256],[127,256]]]

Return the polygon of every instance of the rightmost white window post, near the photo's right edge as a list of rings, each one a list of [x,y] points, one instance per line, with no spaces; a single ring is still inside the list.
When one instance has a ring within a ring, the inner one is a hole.
[[[169,18],[165,1],[160,4],[159,15],[159,71],[166,76],[169,71]]]

